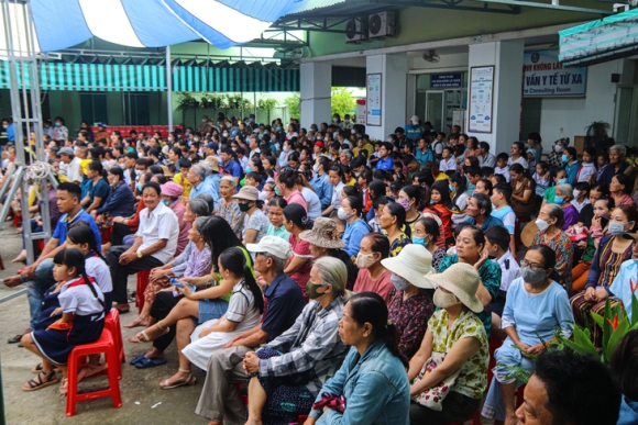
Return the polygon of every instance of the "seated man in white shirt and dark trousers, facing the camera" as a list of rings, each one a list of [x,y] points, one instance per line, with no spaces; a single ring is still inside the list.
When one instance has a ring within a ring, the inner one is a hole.
[[[146,208],[140,212],[140,226],[133,246],[113,246],[107,256],[113,281],[113,301],[120,313],[130,310],[128,277],[164,266],[177,249],[179,237],[177,215],[162,203],[161,193],[160,184],[155,182],[144,184],[142,202]]]

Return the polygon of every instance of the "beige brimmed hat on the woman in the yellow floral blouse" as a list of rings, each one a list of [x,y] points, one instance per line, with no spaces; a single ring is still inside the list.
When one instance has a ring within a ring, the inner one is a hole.
[[[476,297],[481,277],[474,267],[469,264],[457,262],[442,273],[430,276],[429,279],[457,295],[459,301],[474,313],[483,311],[483,304]]]

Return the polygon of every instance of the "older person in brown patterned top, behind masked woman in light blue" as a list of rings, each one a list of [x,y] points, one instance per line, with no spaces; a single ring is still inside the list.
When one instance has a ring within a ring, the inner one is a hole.
[[[554,271],[558,275],[557,281],[561,283],[568,293],[572,292],[572,241],[562,226],[565,213],[556,203],[546,203],[540,208],[536,225],[538,233],[534,236],[531,245],[549,246],[556,253]]]

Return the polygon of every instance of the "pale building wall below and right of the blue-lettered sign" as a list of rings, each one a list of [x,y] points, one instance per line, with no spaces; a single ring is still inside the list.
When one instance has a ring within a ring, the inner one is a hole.
[[[585,98],[542,99],[540,136],[546,150],[556,139],[584,136],[585,127],[594,121],[609,123],[613,136],[614,111],[616,109],[616,83],[612,74],[620,74],[623,60],[613,60],[587,68],[587,91]]]

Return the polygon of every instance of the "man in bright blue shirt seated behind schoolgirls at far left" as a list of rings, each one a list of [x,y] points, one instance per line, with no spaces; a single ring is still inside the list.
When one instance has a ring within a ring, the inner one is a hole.
[[[53,278],[53,257],[66,248],[66,234],[68,228],[78,223],[85,222],[94,231],[97,246],[101,246],[102,239],[94,217],[80,205],[81,189],[74,183],[61,183],[57,187],[57,208],[62,216],[59,217],[52,238],[46,243],[42,254],[31,266],[24,268],[21,275],[12,276],[3,280],[3,283],[13,288],[20,283],[28,282],[29,287],[29,310],[31,312],[31,329],[40,316],[44,293],[55,284]],[[18,340],[16,340],[18,342]]]

